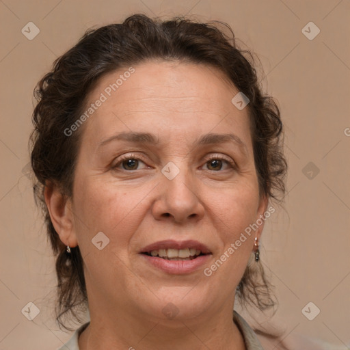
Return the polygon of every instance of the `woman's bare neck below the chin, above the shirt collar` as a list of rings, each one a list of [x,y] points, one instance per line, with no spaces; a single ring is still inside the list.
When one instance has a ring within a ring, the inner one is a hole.
[[[243,336],[232,321],[232,311],[201,315],[186,320],[134,317],[131,312],[110,314],[109,310],[90,310],[90,325],[79,336],[80,350],[164,349],[245,350]],[[232,310],[232,309],[231,309]]]

